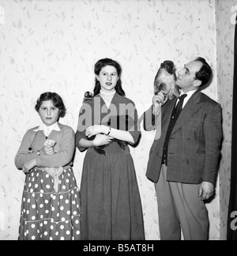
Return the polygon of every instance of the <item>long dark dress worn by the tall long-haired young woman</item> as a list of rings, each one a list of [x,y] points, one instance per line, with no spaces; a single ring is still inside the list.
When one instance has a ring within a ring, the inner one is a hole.
[[[123,111],[125,106],[127,110]],[[87,138],[88,126],[107,125],[110,120],[111,127],[117,128],[118,116],[120,130],[129,130],[137,142],[140,131],[134,103],[115,93],[109,108],[100,95],[83,104],[77,126],[77,148],[85,150],[78,143]],[[141,198],[130,149],[114,141],[104,150],[105,156],[94,148],[87,149],[85,155],[81,177],[81,239],[143,240]]]

